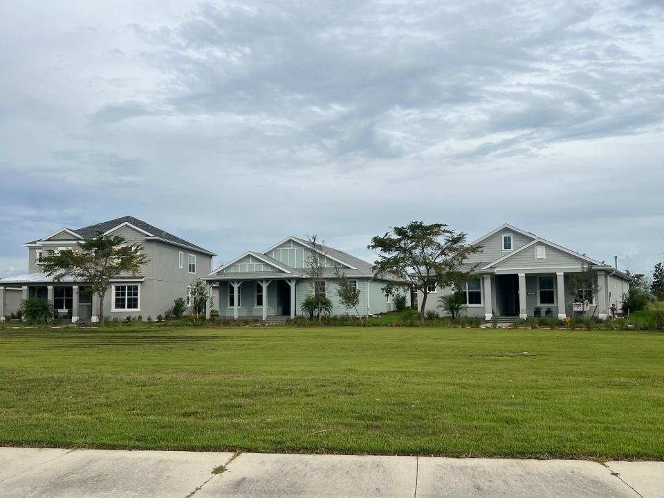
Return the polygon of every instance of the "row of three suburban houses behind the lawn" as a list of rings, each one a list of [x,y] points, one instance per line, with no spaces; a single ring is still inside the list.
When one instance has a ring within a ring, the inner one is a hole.
[[[393,309],[392,297],[386,297],[383,288],[395,284],[394,279],[374,277],[370,263],[342,250],[328,246],[315,248],[305,239],[287,237],[266,250],[249,250],[214,269],[214,252],[133,216],[124,216],[77,230],[62,228],[24,244],[28,249],[28,273],[0,280],[0,320],[17,311],[23,299],[42,297],[53,303],[59,317],[71,322],[97,322],[99,298],[84,292],[86,282],[73,279],[53,282],[42,271],[40,259],[48,250],[76,248],[80,241],[98,233],[122,235],[128,244],[140,244],[147,256],[139,275],[126,275],[111,282],[111,291],[104,302],[104,313],[110,317],[156,317],[178,297],[187,299],[188,306],[190,287],[197,278],[210,286],[212,309],[221,317],[262,320],[295,317],[302,314],[302,302],[312,293],[306,267],[314,250],[322,254],[321,291],[331,299],[333,314],[348,313],[335,293],[338,271],[360,289],[361,313],[378,314]],[[591,303],[591,313],[606,318],[622,308],[629,275],[603,261],[508,224],[472,244],[482,250],[466,262],[476,268],[477,275],[461,289],[466,315],[486,320],[538,313],[561,318],[571,315],[574,298],[566,291],[566,282],[571,273],[588,266],[596,270],[599,288]],[[436,311],[439,311],[436,297],[452,292],[450,288],[433,287],[429,291],[427,309]],[[409,288],[401,287],[400,292],[410,304]]]

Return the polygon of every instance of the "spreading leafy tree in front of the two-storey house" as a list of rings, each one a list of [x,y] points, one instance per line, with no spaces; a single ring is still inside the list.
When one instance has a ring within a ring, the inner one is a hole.
[[[78,243],[77,249],[48,250],[42,257],[44,273],[61,282],[64,277],[73,277],[90,286],[90,292],[100,299],[99,318],[104,326],[104,297],[111,280],[124,274],[138,275],[140,266],[148,259],[141,254],[140,244],[127,245],[121,235],[104,235],[102,232],[92,239]]]

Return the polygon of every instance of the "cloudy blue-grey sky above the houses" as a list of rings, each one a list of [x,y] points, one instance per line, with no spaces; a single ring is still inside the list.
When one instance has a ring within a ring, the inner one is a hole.
[[[215,264],[502,223],[664,259],[664,2],[0,4],[0,278],[131,215]]]

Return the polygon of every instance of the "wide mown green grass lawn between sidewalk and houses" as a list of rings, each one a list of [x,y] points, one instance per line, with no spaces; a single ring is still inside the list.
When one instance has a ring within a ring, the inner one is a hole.
[[[664,334],[5,328],[0,445],[664,459]]]

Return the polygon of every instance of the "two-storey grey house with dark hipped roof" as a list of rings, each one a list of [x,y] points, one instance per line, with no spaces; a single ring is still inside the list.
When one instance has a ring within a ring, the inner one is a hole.
[[[121,235],[127,244],[140,244],[147,262],[139,275],[123,275],[111,282],[104,299],[104,315],[156,317],[186,299],[188,286],[212,270],[214,253],[180,237],[169,234],[133,216],[104,221],[77,230],[61,228],[39,240],[24,244],[28,248],[28,273],[0,280],[0,320],[17,311],[22,299],[43,297],[53,303],[57,317],[71,322],[98,321],[99,297],[86,293],[86,282],[65,277],[62,282],[42,272],[40,259],[48,250],[76,248],[84,239],[97,234]]]

